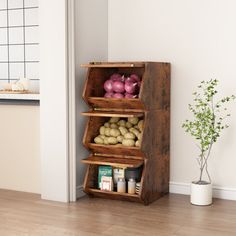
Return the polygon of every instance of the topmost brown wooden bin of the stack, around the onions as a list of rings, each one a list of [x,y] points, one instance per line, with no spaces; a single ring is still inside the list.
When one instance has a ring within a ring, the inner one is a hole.
[[[132,62],[131,62],[132,63]],[[112,64],[112,63],[110,63]],[[125,63],[123,63],[125,64]],[[129,65],[130,63],[127,63]],[[101,68],[89,68],[87,81],[84,87],[83,98],[91,107],[117,108],[117,109],[166,109],[170,98],[170,63],[142,62],[142,67],[114,68],[106,67],[101,63]],[[138,99],[103,98],[104,82],[113,73],[124,75],[137,74],[141,81]]]

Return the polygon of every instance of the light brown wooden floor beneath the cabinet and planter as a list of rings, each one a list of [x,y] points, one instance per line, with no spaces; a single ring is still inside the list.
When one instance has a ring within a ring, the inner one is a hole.
[[[77,203],[0,190],[0,236],[230,236],[236,235],[236,202],[209,207],[170,194],[149,206],[84,197]]]

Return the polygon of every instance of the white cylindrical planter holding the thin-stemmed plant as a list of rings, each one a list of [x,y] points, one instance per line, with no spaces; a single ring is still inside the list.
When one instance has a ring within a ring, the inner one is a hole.
[[[190,201],[192,204],[199,206],[212,204],[212,184],[196,184],[192,182]]]

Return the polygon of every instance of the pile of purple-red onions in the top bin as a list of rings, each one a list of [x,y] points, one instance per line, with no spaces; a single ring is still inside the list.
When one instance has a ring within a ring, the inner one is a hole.
[[[138,75],[132,74],[125,77],[120,74],[112,74],[104,83],[105,98],[137,98],[141,81]]]

